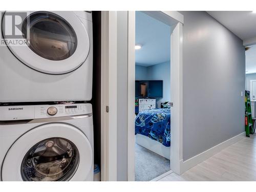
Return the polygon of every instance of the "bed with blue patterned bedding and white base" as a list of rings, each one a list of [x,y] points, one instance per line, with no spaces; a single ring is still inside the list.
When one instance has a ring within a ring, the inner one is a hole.
[[[135,119],[136,143],[170,159],[170,109],[139,112]]]

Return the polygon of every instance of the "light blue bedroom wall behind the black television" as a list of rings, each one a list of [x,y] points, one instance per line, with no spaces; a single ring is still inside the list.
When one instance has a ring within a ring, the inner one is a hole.
[[[153,66],[135,66],[136,80],[163,80],[163,98],[157,100],[157,108],[161,102],[170,101],[170,61]]]

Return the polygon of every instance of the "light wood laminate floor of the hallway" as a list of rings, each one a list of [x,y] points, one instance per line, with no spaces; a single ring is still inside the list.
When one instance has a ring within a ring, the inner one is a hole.
[[[250,135],[225,148],[182,175],[158,181],[256,181],[256,137]]]

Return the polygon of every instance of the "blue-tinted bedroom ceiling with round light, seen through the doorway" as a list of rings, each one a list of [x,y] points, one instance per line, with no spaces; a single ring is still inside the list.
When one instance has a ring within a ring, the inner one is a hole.
[[[140,66],[152,66],[170,60],[170,26],[136,11],[135,20],[136,45],[135,62]]]

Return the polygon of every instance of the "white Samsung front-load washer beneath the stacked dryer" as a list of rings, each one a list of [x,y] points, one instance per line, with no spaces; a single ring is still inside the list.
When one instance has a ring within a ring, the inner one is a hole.
[[[2,181],[93,181],[90,103],[0,106]]]

